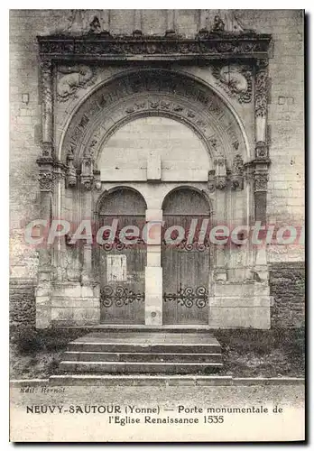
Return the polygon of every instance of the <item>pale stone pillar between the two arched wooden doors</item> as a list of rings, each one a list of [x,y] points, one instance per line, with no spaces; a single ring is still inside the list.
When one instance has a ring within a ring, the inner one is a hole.
[[[145,324],[162,325],[162,210],[146,210]]]

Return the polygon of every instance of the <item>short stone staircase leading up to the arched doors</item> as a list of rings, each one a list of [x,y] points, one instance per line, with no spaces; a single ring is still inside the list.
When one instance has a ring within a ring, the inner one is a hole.
[[[67,374],[210,374],[222,367],[221,347],[208,332],[93,331],[69,343]]]

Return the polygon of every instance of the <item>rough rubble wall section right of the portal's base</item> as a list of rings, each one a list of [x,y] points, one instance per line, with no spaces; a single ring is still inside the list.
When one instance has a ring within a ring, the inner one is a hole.
[[[272,263],[272,327],[304,327],[305,267],[301,262]]]

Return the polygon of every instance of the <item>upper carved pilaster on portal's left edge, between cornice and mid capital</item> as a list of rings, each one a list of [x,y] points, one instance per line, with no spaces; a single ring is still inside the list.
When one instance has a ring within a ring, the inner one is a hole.
[[[42,155],[52,157],[52,67],[50,59],[41,60],[42,69]]]

